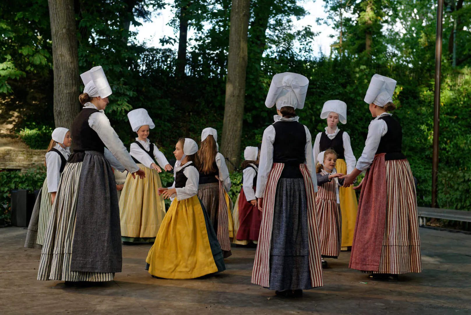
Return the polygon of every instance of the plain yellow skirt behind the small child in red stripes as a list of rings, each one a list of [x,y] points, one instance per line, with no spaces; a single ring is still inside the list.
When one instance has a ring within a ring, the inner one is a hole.
[[[347,174],[347,164],[342,158],[337,159],[335,165],[337,173]],[[358,202],[353,186],[349,188],[339,187],[340,209],[342,212],[342,241],[341,250],[347,250],[352,246],[355,222],[357,220]]]

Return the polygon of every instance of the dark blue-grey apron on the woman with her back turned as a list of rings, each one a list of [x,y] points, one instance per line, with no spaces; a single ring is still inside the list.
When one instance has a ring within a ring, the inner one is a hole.
[[[268,289],[312,289],[308,205],[303,178],[280,178],[276,185]]]

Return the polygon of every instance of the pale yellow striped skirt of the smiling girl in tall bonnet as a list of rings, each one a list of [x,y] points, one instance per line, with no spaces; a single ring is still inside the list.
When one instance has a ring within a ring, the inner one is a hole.
[[[146,177],[128,174],[119,200],[123,240],[153,241],[165,216],[165,203],[157,190],[162,187],[159,173],[142,164]]]

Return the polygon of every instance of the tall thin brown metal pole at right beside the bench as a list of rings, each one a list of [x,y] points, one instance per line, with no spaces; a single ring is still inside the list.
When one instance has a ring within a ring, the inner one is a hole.
[[[442,51],[443,0],[438,0],[437,40],[435,42],[435,93],[433,98],[433,160],[432,160],[432,207],[437,207],[437,179],[439,166],[439,124],[440,124],[440,77]]]

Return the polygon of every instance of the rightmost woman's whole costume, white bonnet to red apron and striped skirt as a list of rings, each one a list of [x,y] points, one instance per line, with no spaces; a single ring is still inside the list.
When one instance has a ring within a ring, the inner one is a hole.
[[[374,75],[365,102],[384,106],[392,101],[395,86],[395,80]],[[379,274],[422,271],[415,186],[401,145],[402,128],[391,114],[372,120],[356,166],[366,175],[350,268]]]

